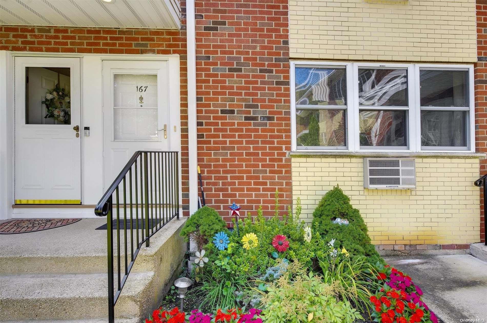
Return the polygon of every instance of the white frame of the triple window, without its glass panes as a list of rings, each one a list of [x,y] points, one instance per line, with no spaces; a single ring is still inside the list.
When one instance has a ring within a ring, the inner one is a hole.
[[[296,105],[295,68],[345,68],[347,82],[347,105]],[[465,64],[404,64],[404,63],[362,63],[362,62],[290,62],[290,97],[291,97],[291,149],[293,152],[475,152],[475,113],[474,113],[474,74],[473,65]],[[408,106],[363,106],[358,104],[358,69],[407,69],[408,73]],[[463,70],[468,71],[468,107],[421,107],[419,92],[419,70]],[[347,110],[346,113],[346,146],[332,147],[297,147],[296,110]],[[402,110],[408,111],[407,140],[408,147],[360,147],[359,110]],[[467,147],[421,147],[421,111],[467,111]]]

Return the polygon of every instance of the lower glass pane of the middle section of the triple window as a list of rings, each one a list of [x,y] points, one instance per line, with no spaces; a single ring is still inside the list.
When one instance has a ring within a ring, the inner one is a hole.
[[[408,146],[407,112],[361,110],[360,146]]]

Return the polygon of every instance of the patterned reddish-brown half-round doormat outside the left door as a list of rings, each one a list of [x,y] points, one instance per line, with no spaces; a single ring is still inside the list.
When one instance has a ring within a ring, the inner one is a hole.
[[[0,234],[14,234],[59,228],[81,219],[21,219],[0,223]]]

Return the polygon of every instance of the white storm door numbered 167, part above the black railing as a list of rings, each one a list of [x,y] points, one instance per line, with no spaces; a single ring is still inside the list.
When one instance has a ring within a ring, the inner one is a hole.
[[[134,152],[168,150],[168,64],[103,61],[105,190]]]

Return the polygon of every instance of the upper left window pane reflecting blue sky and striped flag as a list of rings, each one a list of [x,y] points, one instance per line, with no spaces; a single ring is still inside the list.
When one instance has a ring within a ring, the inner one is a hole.
[[[347,104],[344,68],[297,67],[295,71],[296,104]]]

